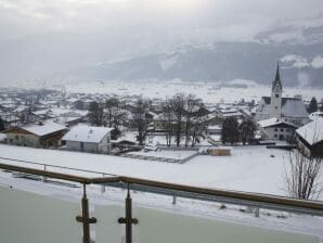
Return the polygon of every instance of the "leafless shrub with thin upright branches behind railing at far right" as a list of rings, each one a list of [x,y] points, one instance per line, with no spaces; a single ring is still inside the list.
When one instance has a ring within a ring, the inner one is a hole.
[[[299,200],[318,199],[321,186],[320,157],[307,157],[300,151],[289,153],[288,168],[285,170],[286,191],[290,197]]]

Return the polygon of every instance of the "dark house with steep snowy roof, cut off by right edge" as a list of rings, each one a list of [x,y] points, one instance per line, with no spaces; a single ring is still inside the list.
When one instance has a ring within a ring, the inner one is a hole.
[[[296,141],[305,155],[323,157],[323,117],[298,128]]]

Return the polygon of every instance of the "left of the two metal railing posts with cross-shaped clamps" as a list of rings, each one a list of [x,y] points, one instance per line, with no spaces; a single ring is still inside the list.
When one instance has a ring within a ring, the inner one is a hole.
[[[91,243],[90,223],[95,223],[96,218],[89,217],[89,200],[87,197],[87,186],[86,184],[83,184],[82,216],[76,216],[76,220],[78,222],[81,222],[83,226],[83,243]]]

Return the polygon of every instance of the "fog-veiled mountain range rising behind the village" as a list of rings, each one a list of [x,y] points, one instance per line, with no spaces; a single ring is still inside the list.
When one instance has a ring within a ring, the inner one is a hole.
[[[268,85],[280,60],[285,86],[323,87],[323,14],[275,23],[249,42],[177,49],[150,37],[129,39],[117,29],[106,33],[55,33],[3,41],[0,81],[180,78]]]

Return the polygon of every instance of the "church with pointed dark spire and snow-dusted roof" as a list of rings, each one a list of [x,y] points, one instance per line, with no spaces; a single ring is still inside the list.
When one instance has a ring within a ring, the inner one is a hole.
[[[309,114],[301,98],[283,98],[280,65],[272,82],[271,97],[262,97],[256,110],[256,120],[276,118],[300,127],[309,123]]]

